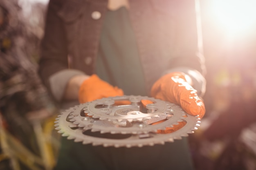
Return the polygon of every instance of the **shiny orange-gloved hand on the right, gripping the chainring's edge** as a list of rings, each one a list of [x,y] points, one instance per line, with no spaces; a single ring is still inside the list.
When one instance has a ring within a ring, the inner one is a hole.
[[[182,72],[168,73],[160,77],[151,88],[151,95],[179,104],[190,115],[199,115],[199,118],[204,116],[204,102],[198,97],[197,91],[186,82]]]

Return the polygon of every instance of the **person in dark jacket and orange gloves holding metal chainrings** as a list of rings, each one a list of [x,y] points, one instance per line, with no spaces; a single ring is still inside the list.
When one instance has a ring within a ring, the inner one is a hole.
[[[62,109],[141,95],[202,118],[205,68],[197,34],[189,0],[50,0],[38,73]],[[63,137],[55,169],[192,170],[193,163],[186,138],[114,148]]]

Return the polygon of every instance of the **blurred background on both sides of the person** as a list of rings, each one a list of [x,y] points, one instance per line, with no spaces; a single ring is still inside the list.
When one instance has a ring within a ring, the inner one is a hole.
[[[207,113],[189,136],[195,168],[256,170],[256,1],[196,2],[207,68]],[[55,163],[59,135],[53,121],[58,113],[36,74],[47,3],[0,0],[16,16],[13,26],[19,25],[14,32],[0,27],[1,51],[8,50],[11,38],[17,38],[21,49],[8,53],[18,53],[16,60],[0,60],[0,170],[51,170]],[[21,59],[26,62],[19,70]],[[24,81],[31,78],[36,81]]]

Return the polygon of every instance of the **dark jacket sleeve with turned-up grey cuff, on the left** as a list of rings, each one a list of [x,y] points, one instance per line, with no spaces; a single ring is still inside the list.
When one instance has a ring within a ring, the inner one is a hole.
[[[68,47],[63,20],[58,16],[65,0],[50,0],[46,13],[45,34],[41,42],[38,73],[54,99],[61,101],[69,79],[81,71],[68,68]]]

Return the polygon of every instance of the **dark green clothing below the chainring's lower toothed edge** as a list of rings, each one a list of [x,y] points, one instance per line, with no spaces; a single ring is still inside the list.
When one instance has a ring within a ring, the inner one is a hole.
[[[66,137],[61,142],[55,170],[193,170],[186,138],[142,148],[83,145]]]

